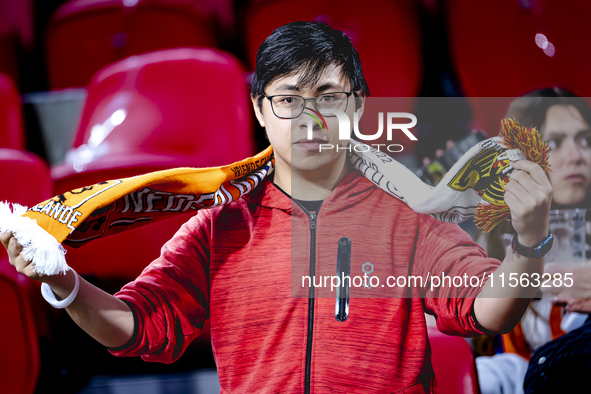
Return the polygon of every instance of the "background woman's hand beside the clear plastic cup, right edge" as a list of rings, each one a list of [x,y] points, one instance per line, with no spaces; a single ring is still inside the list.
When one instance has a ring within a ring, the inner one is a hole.
[[[591,265],[549,264],[546,273],[551,280],[547,276],[542,280],[542,293],[550,295],[567,312],[591,313]]]

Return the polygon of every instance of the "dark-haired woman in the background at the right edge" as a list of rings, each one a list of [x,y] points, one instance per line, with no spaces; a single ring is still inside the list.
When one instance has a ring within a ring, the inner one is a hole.
[[[548,177],[553,187],[552,209],[591,208],[591,108],[587,103],[561,88],[536,90],[515,99],[505,118],[515,118],[522,126],[535,127],[550,145],[551,171]],[[513,231],[510,223],[505,222],[488,235],[479,236],[478,242],[489,256],[502,260],[508,247],[508,234]],[[591,297],[591,269],[582,275],[587,275],[590,280],[579,285],[581,293],[586,288],[585,296]],[[566,311],[591,312],[588,301],[569,301]],[[564,335],[562,315],[560,303],[537,297],[517,327],[502,336],[505,353],[476,359],[482,393],[522,393],[532,354],[542,345]],[[477,354],[479,350],[491,352],[490,339],[475,341]]]

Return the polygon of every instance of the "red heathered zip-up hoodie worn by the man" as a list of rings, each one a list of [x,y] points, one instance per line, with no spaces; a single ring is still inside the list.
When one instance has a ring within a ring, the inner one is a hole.
[[[348,316],[338,321],[330,281],[302,287],[302,276],[336,275],[344,236],[350,275],[371,263],[380,285],[351,285]],[[457,225],[417,214],[358,171],[317,217],[266,180],[235,203],[199,211],[117,293],[134,312],[135,333],[110,350],[170,363],[210,318],[221,393],[431,392],[424,312],[442,332],[482,334],[472,311],[480,289],[381,285],[409,274],[482,277],[499,264]]]

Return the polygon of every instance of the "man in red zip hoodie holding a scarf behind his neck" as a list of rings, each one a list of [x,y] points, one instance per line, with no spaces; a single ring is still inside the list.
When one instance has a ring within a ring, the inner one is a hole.
[[[508,332],[536,288],[474,298],[470,289],[422,283],[412,298],[385,298],[364,286],[351,290],[356,297],[337,319],[334,293],[299,286],[294,272],[334,275],[337,244],[339,253],[350,252],[352,276],[370,262],[374,276],[529,275],[541,273],[542,260],[515,253],[499,266],[458,226],[415,213],[349,168],[345,149],[319,152],[321,143],[347,146],[335,118],[307,139],[305,109],[322,112],[324,103],[342,100],[349,116],[361,115],[368,94],[342,32],[314,22],[275,30],[259,49],[252,87],[275,152],[273,180],[233,204],[199,211],[116,296],[82,280],[66,309],[73,320],[115,355],[172,362],[210,318],[224,393],[431,392],[424,312],[452,334]],[[548,235],[551,187],[539,166],[512,165],[506,201],[517,241],[532,247]],[[350,244],[343,248],[344,236]],[[68,297],[72,271],[40,277],[10,234],[2,242],[19,272]],[[302,288],[303,298],[292,296]]]

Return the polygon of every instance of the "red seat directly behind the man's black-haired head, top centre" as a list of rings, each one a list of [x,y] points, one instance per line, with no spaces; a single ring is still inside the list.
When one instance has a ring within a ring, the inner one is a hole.
[[[260,1],[251,5],[246,19],[246,48],[251,68],[254,69],[259,46],[273,30],[295,21],[319,21],[344,31],[361,58],[363,74],[373,97],[416,97],[421,88],[421,37],[416,12],[411,1],[372,1],[360,6],[354,0]],[[393,108],[389,101],[372,101],[371,113],[411,112],[414,100],[397,101]],[[382,104],[385,107],[382,107]],[[368,111],[369,112],[369,111]],[[375,133],[378,118],[364,117],[365,134]],[[401,143],[405,153],[413,150],[407,138],[377,144]],[[398,137],[396,137],[398,138]]]

